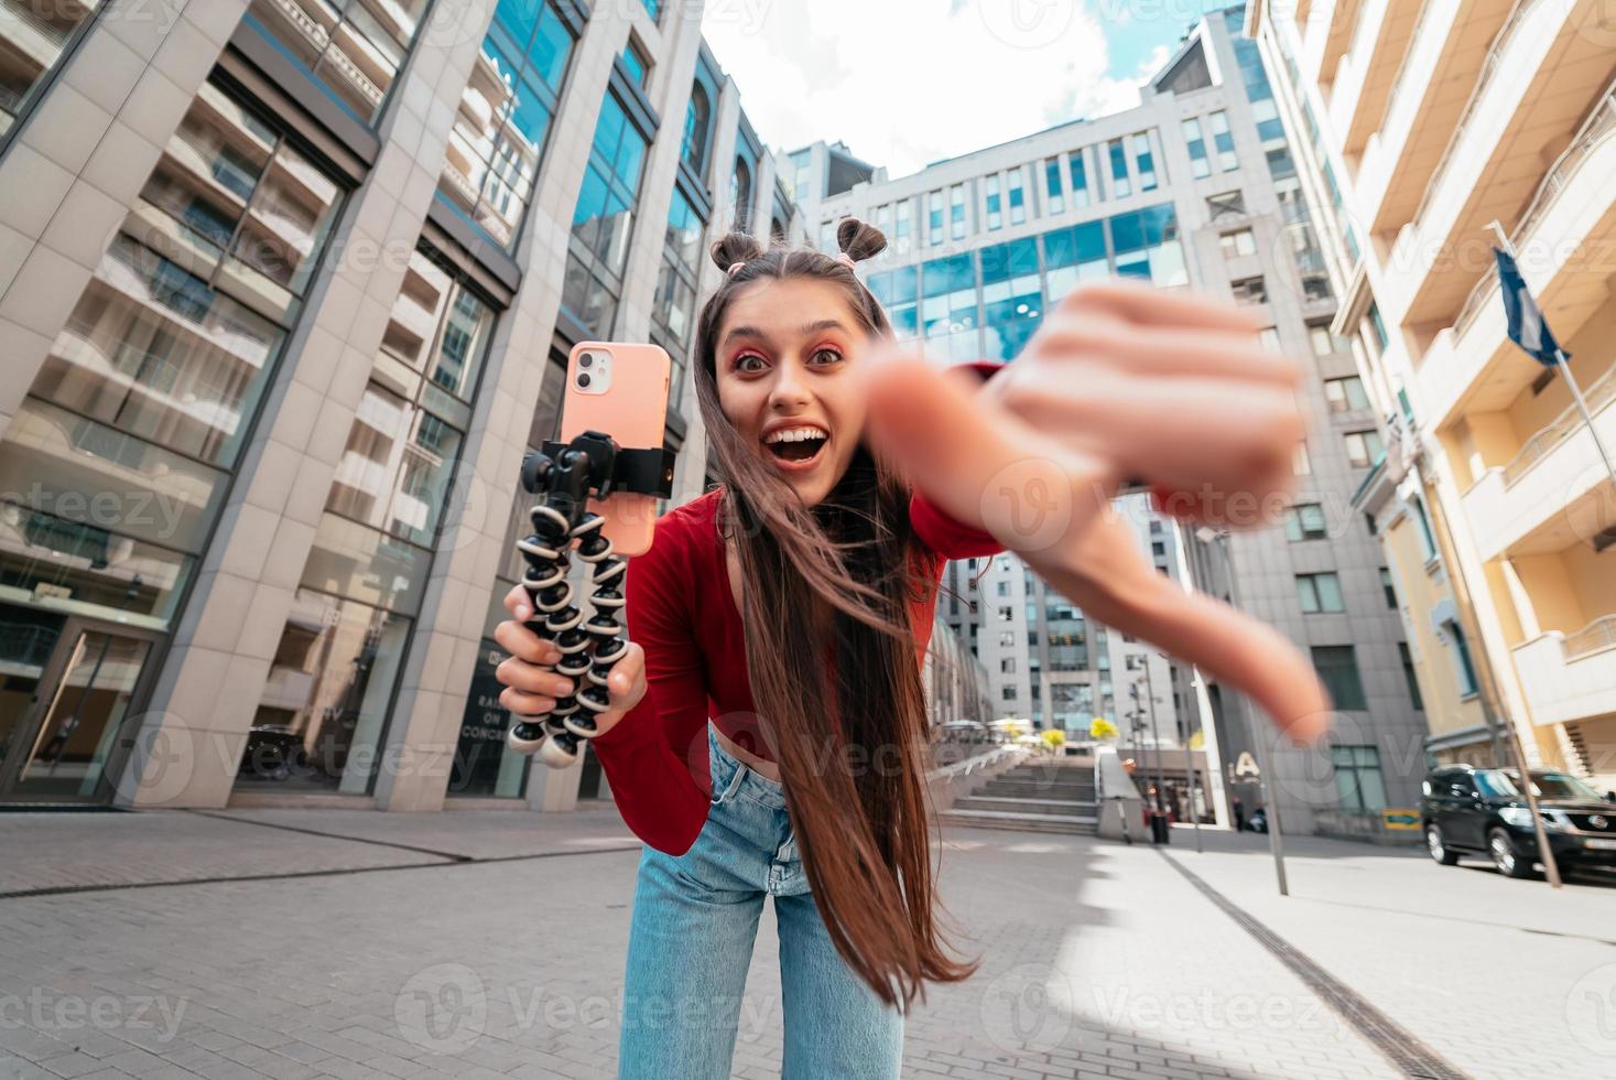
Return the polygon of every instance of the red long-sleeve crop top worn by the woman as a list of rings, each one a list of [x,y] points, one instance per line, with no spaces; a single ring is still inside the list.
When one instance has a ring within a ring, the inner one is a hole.
[[[997,364],[971,364],[987,375]],[[645,652],[640,703],[591,740],[624,823],[651,847],[685,854],[706,825],[713,799],[706,726],[772,760],[758,731],[747,676],[745,627],[729,585],[719,535],[722,488],[656,519],[651,548],[629,559],[629,640]],[[910,498],[920,540],[916,571],[931,582],[911,605],[916,663],[926,656],[937,584],[949,559],[1004,551],[991,534],[963,525],[924,495]]]

